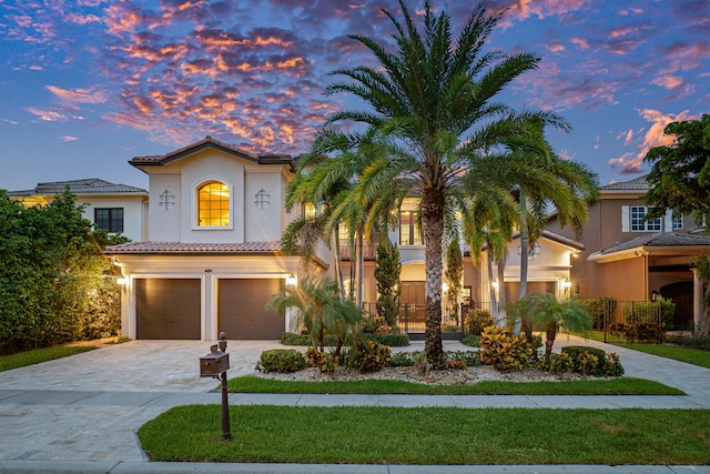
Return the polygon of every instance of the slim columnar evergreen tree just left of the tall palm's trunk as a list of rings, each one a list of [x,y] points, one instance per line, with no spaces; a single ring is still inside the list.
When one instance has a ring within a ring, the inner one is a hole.
[[[377,245],[375,280],[377,281],[377,314],[385,319],[388,326],[397,326],[399,316],[399,295],[402,284],[399,274],[402,262],[397,245]]]

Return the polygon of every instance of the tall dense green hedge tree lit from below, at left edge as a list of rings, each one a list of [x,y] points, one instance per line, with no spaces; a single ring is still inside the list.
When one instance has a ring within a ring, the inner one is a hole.
[[[0,353],[118,332],[120,290],[101,251],[125,239],[81,212],[69,191],[31,208],[0,192]]]

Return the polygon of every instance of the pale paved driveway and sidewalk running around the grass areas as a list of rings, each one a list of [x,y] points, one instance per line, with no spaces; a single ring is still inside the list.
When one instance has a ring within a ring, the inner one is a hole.
[[[0,373],[0,471],[2,472],[432,472],[430,466],[315,466],[294,464],[146,463],[135,431],[178,405],[220,403],[212,379],[200,379],[199,359],[209,342],[133,341],[72,357]],[[684,391],[684,396],[485,396],[230,394],[231,404],[292,406],[376,405],[555,409],[710,409],[710,369],[606,344],[560,336],[556,346],[585,344],[617,352],[626,375]],[[250,374],[274,341],[230,341],[230,377]],[[413,343],[406,350],[422,350]],[[467,350],[445,342],[446,350]],[[227,468],[229,467],[229,468]],[[436,466],[436,472],[688,472],[642,466]],[[625,471],[629,470],[630,471]],[[240,471],[241,470],[241,471]],[[527,470],[527,471],[526,471]],[[581,470],[581,471],[580,471]],[[587,471],[585,471],[587,470]],[[710,466],[693,472],[710,473]]]

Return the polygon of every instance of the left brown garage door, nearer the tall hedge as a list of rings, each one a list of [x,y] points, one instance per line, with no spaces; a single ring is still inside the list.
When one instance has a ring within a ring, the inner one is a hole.
[[[200,339],[200,280],[138,279],[138,339]]]

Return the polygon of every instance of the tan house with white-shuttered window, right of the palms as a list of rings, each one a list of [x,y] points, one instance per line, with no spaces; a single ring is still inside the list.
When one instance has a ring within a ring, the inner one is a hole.
[[[582,299],[610,296],[618,301],[670,297],[677,305],[674,325],[682,327],[702,312],[702,282],[691,261],[710,252],[703,225],[690,215],[669,211],[663,218],[645,220],[642,201],[648,191],[645,177],[601,188],[599,201],[579,238],[585,250],[575,260],[572,292]],[[555,218],[548,229],[571,238]]]

